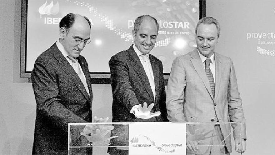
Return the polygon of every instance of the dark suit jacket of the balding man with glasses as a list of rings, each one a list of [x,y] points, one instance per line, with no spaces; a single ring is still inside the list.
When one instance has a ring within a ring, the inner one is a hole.
[[[35,61],[31,75],[37,103],[33,154],[68,154],[68,123],[92,121],[90,72],[83,56],[78,62],[90,96],[56,44]]]

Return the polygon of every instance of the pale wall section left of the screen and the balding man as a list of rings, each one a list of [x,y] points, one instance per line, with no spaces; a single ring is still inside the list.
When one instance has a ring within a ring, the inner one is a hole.
[[[20,34],[14,29],[14,3],[0,1],[0,154],[30,154],[35,100],[30,83],[13,81],[13,73],[19,69],[14,62],[20,62],[15,57],[20,53],[20,48],[16,48],[20,42],[15,42],[15,35]]]

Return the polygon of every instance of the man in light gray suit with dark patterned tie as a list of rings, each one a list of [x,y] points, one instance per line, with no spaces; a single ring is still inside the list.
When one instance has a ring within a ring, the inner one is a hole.
[[[232,152],[231,124],[237,152],[246,148],[245,118],[232,60],[215,50],[220,24],[212,17],[199,20],[197,49],[176,58],[167,86],[170,121],[213,122],[187,127],[187,154]],[[197,137],[196,137],[197,136]]]

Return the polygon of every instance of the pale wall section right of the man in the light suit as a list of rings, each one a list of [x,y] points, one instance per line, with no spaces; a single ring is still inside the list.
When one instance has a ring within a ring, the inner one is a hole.
[[[231,57],[235,66],[247,123],[247,155],[274,154],[274,9],[272,0],[206,1],[206,16],[221,24],[216,52]]]

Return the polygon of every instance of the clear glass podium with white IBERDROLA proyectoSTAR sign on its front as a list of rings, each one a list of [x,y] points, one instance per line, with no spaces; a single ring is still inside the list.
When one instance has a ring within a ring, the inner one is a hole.
[[[237,155],[233,132],[242,139],[241,130],[235,122],[69,123],[68,154]]]

